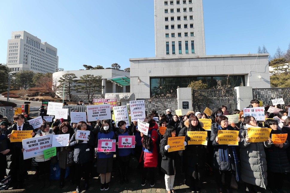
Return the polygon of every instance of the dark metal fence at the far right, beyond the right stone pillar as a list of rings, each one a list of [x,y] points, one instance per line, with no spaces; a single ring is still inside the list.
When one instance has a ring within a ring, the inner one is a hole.
[[[284,109],[284,106],[290,104],[290,88],[253,88],[253,99],[258,99],[263,102],[263,105],[272,105],[271,99],[283,98],[285,105],[281,105],[280,108]]]

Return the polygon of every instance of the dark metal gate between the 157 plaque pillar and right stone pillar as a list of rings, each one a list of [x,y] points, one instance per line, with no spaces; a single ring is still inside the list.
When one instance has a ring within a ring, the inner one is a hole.
[[[225,105],[230,114],[236,109],[235,89],[207,89],[193,90],[193,110],[203,112],[206,107],[213,110],[215,107]]]

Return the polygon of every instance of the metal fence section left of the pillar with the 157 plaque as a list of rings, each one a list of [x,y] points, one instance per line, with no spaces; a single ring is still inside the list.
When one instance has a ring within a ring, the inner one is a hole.
[[[171,114],[175,114],[177,109],[177,99],[176,98],[158,98],[158,99],[136,99],[144,100],[145,110],[149,114],[152,110],[156,110],[158,115],[161,113],[166,113],[166,109],[171,109]]]

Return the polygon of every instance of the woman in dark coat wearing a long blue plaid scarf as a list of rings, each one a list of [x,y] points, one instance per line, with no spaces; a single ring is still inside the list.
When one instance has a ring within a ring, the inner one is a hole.
[[[213,148],[214,148],[213,166],[214,166],[215,180],[218,186],[218,192],[223,192],[222,174],[225,174],[226,192],[232,192],[231,191],[232,172],[235,171],[237,181],[239,181],[239,177],[240,177],[238,154],[236,153],[235,146],[219,144],[219,137],[218,137],[219,130],[234,130],[234,128],[231,125],[229,125],[228,117],[224,115],[217,117],[216,123],[214,123],[211,126],[210,141],[212,141]],[[236,137],[236,140],[239,142],[240,138]]]

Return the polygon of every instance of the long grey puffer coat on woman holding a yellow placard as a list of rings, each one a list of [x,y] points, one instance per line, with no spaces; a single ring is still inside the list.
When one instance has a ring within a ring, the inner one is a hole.
[[[241,139],[239,147],[242,180],[266,189],[268,181],[264,147],[269,148],[272,143],[268,143],[268,141],[257,143],[246,142],[245,137],[247,135],[248,128],[242,123],[239,131],[239,137]]]

